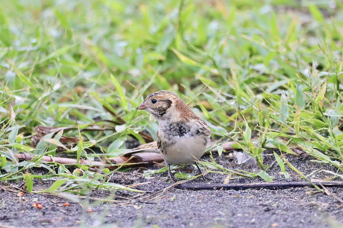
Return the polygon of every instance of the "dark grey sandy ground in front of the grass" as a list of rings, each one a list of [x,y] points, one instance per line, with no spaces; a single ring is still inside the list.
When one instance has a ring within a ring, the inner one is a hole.
[[[287,157],[305,175],[317,169],[336,171],[330,165],[310,162],[313,160],[310,157]],[[209,160],[209,157],[205,156],[203,159]],[[259,170],[253,165],[238,166],[231,157],[216,157],[216,161],[229,169]],[[266,156],[266,164],[272,161],[271,156]],[[153,165],[148,168],[158,169]],[[121,181],[122,184],[150,182],[136,187],[148,191],[142,195],[127,190],[96,190],[86,193],[86,199],[76,198],[78,201],[73,202],[72,199],[60,196],[33,193],[17,197],[17,193],[2,188],[0,227],[343,227],[343,206],[339,201],[343,199],[341,188],[328,187],[333,193],[331,195],[304,187],[197,191],[171,188],[148,199],[149,195],[168,185],[163,182],[166,173],[156,174],[150,179],[141,177],[145,169],[146,167],[132,169],[130,173],[126,173],[130,180]],[[187,172],[190,169],[194,167],[189,165],[181,171]],[[291,175],[288,180],[280,173],[277,164],[268,173],[275,175],[276,182],[304,181],[291,169],[286,169]],[[195,169],[193,174],[196,174]],[[226,177],[213,173],[207,176],[212,180],[192,180],[189,183],[223,183]],[[310,178],[325,179],[330,176],[317,172]],[[259,177],[238,178],[229,183],[253,182],[264,180]],[[22,185],[21,182],[9,184],[17,187]],[[8,186],[6,183],[1,185]],[[34,190],[45,189],[50,185],[50,181],[35,180]],[[100,202],[95,198],[117,202]],[[32,203],[37,200],[42,203],[43,209],[32,207]],[[64,202],[70,202],[70,206],[64,206]],[[89,208],[93,210],[92,213],[87,212]]]

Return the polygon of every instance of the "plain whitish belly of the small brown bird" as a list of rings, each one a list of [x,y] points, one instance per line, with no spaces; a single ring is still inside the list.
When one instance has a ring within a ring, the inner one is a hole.
[[[189,164],[197,161],[205,152],[203,137],[178,138],[177,142],[165,147],[161,153],[166,163],[172,165]]]

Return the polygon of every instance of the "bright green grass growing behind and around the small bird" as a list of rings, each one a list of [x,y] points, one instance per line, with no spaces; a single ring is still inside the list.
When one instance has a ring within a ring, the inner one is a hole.
[[[119,155],[126,139],[144,143],[140,131],[155,139],[157,122],[135,107],[158,90],[184,99],[209,123],[214,142],[243,139],[237,147],[261,168],[244,175],[268,180],[261,153],[291,147],[342,171],[342,2],[227,2],[3,2],[0,180],[25,179],[29,189],[32,178],[125,188],[40,157],[17,161],[13,153],[55,155],[63,134],[82,139],[68,151],[75,158],[97,157],[84,151],[94,145],[104,156]],[[70,129],[34,149],[36,125]],[[34,166],[50,172],[25,173]]]

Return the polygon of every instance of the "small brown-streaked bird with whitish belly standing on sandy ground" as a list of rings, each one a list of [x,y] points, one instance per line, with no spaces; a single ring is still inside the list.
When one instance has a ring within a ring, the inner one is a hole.
[[[148,95],[137,109],[146,110],[158,121],[157,147],[168,166],[197,161],[211,141],[211,131],[176,94],[161,90]],[[196,163],[200,174],[201,169]]]

